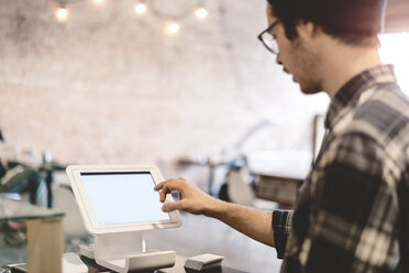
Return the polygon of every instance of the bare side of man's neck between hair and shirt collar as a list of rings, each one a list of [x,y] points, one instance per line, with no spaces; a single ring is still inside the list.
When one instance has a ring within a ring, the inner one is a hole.
[[[382,65],[377,46],[358,47],[336,44],[322,51],[322,87],[333,98],[356,75]]]

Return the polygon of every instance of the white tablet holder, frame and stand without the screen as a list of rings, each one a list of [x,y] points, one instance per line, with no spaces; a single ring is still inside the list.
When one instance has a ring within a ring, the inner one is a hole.
[[[96,210],[89,198],[89,193],[81,175],[123,175],[150,174],[152,183],[164,181],[161,171],[155,166],[141,165],[73,165],[67,167],[67,175],[76,196],[79,209],[88,231],[93,236],[95,243],[80,245],[80,254],[95,259],[99,265],[115,272],[150,271],[175,265],[175,251],[146,251],[142,232],[152,229],[177,228],[181,226],[180,214],[168,212],[169,220],[152,222],[135,222],[132,225],[103,226],[97,220]],[[152,188],[154,187],[152,184]],[[115,184],[118,185],[118,184]],[[150,185],[151,188],[151,185]],[[103,194],[103,193],[102,193]],[[111,193],[110,197],[111,197]],[[101,195],[101,193],[99,193]],[[158,201],[158,196],[155,196]],[[155,199],[156,200],[156,199]],[[119,200],[120,201],[120,200]],[[173,201],[172,195],[166,196]],[[158,204],[159,205],[159,204]]]

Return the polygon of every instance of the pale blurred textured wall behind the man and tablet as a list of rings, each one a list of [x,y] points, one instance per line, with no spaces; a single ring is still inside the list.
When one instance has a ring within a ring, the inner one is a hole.
[[[163,18],[136,17],[131,0],[67,3],[58,23],[52,0],[0,0],[10,145],[63,162],[151,164],[217,153],[270,120],[245,151],[310,150],[310,120],[328,99],[301,95],[256,41],[264,0],[207,1],[209,18],[185,18],[175,36]]]

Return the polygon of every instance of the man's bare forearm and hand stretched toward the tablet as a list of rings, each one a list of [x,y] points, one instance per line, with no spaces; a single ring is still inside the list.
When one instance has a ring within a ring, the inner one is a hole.
[[[177,190],[181,195],[180,200],[165,204],[162,208],[164,211],[181,209],[194,215],[206,215],[229,225],[254,240],[272,247],[275,245],[272,211],[215,199],[181,177],[162,182],[155,187],[155,190],[161,190],[162,203],[165,201],[166,195],[173,190]]]

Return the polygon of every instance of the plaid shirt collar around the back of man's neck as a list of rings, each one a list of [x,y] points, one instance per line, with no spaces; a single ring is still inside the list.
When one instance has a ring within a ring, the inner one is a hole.
[[[342,110],[346,106],[356,103],[361,94],[375,85],[387,83],[396,83],[394,66],[391,65],[379,65],[353,77],[341,87],[331,100],[325,117],[325,129],[333,129]]]

